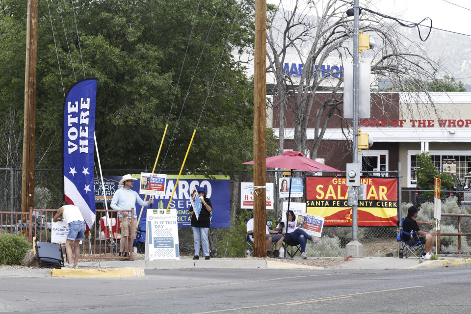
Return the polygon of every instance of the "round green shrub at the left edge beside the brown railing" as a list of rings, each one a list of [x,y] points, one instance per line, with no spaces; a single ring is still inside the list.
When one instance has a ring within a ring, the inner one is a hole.
[[[0,264],[20,265],[32,245],[20,235],[0,234]]]

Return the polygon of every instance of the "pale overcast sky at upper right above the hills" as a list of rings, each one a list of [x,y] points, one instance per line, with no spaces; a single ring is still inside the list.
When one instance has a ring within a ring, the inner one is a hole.
[[[283,2],[288,6],[294,1]],[[279,0],[267,0],[267,3],[278,4]],[[471,0],[360,0],[360,6],[367,3],[369,9],[383,14],[415,23],[429,17],[433,27],[471,35]]]

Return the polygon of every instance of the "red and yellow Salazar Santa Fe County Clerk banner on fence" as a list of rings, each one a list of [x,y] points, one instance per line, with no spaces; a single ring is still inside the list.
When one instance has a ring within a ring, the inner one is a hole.
[[[361,178],[366,199],[358,201],[358,226],[397,226],[397,179]],[[324,226],[351,226],[348,186],[341,177],[306,178],[306,212],[324,217]]]

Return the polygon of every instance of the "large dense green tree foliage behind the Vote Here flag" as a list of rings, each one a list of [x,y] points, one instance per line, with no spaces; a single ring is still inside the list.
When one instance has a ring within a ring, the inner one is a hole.
[[[13,108],[19,129],[26,2],[0,1],[0,120]],[[167,121],[157,169],[164,158],[164,169],[180,168],[196,126],[186,169],[233,175],[242,169],[240,161],[252,158],[253,88],[230,53],[253,43],[250,2],[40,1],[38,20],[36,147],[44,157],[36,161],[41,167],[62,162],[61,77],[65,92],[80,79],[98,78],[96,133],[105,169],[152,169]]]

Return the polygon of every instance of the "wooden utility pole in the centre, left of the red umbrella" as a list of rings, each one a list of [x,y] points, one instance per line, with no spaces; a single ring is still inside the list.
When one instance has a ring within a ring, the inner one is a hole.
[[[265,186],[266,133],[266,0],[255,0],[254,185]],[[254,256],[266,257],[265,188],[254,193]]]

